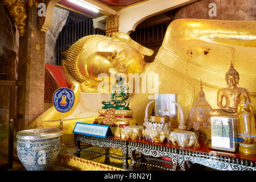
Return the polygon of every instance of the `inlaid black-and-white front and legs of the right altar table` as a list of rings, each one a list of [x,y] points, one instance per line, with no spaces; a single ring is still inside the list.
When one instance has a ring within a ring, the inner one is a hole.
[[[170,171],[176,171],[179,169],[181,171],[186,171],[186,162],[201,164],[203,166],[217,169],[220,171],[256,171],[256,162],[251,160],[231,158],[221,155],[208,154],[204,152],[181,150],[179,148],[129,141],[127,152],[132,161],[129,166],[130,169],[133,169],[135,163],[152,166],[152,164],[143,163],[136,160],[134,156],[134,151],[155,158],[165,157],[172,159],[172,168],[155,166]]]

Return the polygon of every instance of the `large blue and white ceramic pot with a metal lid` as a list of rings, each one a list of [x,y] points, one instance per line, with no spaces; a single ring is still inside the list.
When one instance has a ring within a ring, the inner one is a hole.
[[[49,169],[59,155],[61,135],[57,129],[19,131],[16,138],[20,162],[28,171]]]

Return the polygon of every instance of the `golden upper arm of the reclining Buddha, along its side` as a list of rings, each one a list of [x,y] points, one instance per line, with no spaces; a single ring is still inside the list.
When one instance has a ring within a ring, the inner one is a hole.
[[[256,21],[177,19],[168,26],[163,46],[179,48],[180,40],[256,47]]]

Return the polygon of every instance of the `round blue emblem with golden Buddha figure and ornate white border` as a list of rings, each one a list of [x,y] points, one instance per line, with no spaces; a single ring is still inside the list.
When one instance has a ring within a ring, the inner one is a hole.
[[[75,94],[69,88],[59,88],[53,94],[53,105],[61,113],[71,110],[74,101]]]

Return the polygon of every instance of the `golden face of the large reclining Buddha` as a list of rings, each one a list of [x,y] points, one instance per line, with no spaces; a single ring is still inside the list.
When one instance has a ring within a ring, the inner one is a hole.
[[[90,45],[93,42],[92,40]],[[139,73],[146,64],[144,56],[125,42],[103,39],[95,41],[95,43],[97,45],[94,46],[94,49],[89,46],[87,49],[84,48],[82,52],[86,51],[88,56],[84,56],[84,59],[80,61],[80,65],[83,67],[80,69],[80,73],[94,81],[98,81],[98,75],[101,73],[108,76],[113,71],[115,74],[119,72],[125,73],[125,75]]]

